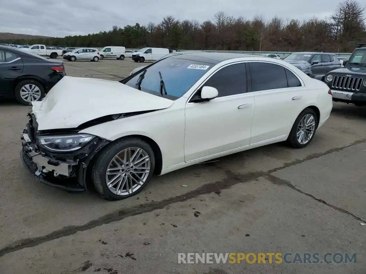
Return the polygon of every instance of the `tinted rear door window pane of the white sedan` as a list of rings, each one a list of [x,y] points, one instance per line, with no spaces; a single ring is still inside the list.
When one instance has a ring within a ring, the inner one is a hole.
[[[252,90],[287,88],[287,77],[283,66],[269,63],[249,63]]]

